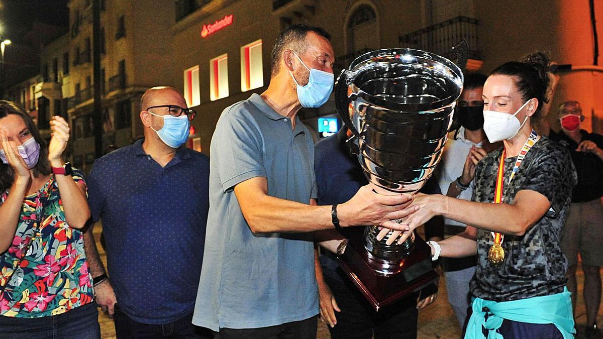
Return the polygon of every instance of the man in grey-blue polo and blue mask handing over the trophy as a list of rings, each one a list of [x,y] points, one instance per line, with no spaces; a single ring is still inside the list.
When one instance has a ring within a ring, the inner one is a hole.
[[[262,95],[227,107],[213,133],[210,210],[193,323],[229,338],[316,337],[312,232],[409,215],[409,195],[364,186],[350,200],[316,198],[314,144],[297,117],[333,89],[333,48],[317,27],[293,25],[272,52]]]

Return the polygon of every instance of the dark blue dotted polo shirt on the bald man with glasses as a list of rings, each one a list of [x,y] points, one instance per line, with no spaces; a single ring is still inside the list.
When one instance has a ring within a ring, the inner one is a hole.
[[[92,220],[102,220],[107,270],[119,308],[141,323],[191,314],[203,261],[209,158],[179,148],[165,167],[142,140],[96,160],[87,179]]]

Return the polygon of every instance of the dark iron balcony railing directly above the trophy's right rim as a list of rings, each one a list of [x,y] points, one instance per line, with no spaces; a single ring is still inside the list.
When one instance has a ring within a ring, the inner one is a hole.
[[[478,21],[471,17],[458,16],[399,37],[400,47],[422,49],[449,59],[454,59],[450,50],[461,39],[469,44],[469,59],[481,60],[478,49]]]

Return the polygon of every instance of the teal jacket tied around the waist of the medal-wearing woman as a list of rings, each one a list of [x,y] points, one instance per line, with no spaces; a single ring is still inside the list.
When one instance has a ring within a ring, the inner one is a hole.
[[[473,314],[469,318],[465,339],[485,338],[482,326],[488,330],[487,339],[504,339],[496,330],[504,319],[532,324],[557,326],[563,338],[570,339],[576,334],[574,329],[572,300],[567,288],[562,293],[551,296],[532,297],[510,302],[494,302],[481,298],[473,299]],[[484,310],[484,308],[487,308]],[[486,320],[486,313],[488,318]]]

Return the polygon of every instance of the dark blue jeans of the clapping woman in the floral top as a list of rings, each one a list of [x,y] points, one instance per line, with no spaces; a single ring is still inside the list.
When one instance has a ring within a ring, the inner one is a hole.
[[[42,318],[13,318],[0,315],[2,339],[100,339],[96,303],[59,315]]]

